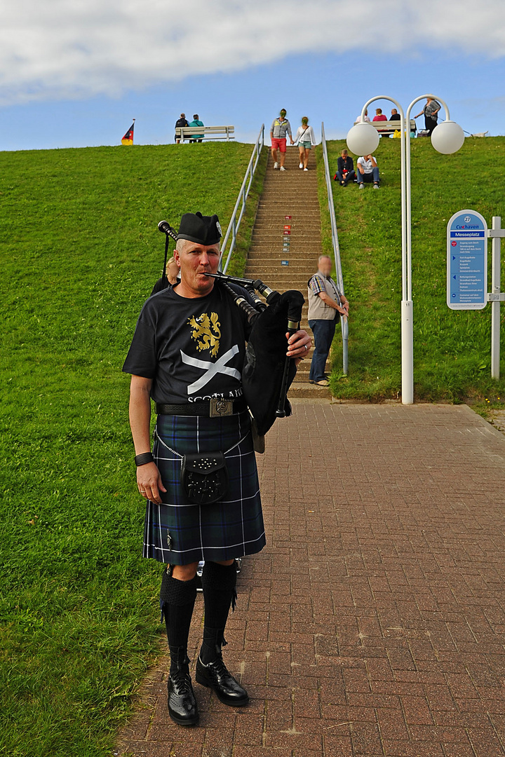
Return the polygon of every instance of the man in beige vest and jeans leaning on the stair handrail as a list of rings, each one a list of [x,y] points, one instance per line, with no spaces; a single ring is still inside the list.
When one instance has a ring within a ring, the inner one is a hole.
[[[348,316],[349,303],[330,276],[332,260],[328,255],[320,255],[317,273],[309,279],[309,326],[314,335],[314,351],[310,363],[310,384],[328,386],[328,376],[324,372],[329,350],[335,336],[335,326],[340,316]]]

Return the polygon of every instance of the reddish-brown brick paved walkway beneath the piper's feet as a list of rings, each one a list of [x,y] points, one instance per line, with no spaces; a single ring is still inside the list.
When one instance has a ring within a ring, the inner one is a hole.
[[[225,649],[251,706],[196,685],[200,726],[172,724],[164,658],[117,753],[505,755],[505,437],[466,406],[298,400],[260,477]]]

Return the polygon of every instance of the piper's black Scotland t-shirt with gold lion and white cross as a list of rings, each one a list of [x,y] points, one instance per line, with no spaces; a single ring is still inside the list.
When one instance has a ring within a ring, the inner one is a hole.
[[[232,288],[251,301],[241,287]],[[163,289],[142,307],[123,371],[152,378],[155,402],[242,397],[250,331],[247,316],[220,285],[194,299]]]

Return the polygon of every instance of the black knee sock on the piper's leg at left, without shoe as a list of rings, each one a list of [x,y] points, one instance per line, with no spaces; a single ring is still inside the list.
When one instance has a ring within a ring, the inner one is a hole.
[[[186,658],[189,627],[195,607],[196,576],[191,581],[179,581],[167,575],[164,569],[161,579],[160,608],[161,617],[165,618],[167,640],[170,648],[170,673],[179,667],[177,662]]]

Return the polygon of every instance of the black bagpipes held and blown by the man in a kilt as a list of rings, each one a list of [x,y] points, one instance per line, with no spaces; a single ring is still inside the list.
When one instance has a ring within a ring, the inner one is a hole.
[[[176,238],[176,233],[167,221],[161,221],[158,229],[167,238],[169,235]],[[166,260],[167,245],[165,263]],[[304,295],[295,289],[279,294],[260,279],[241,279],[223,273],[206,273],[206,276],[217,280],[217,284],[245,313],[251,325],[242,369],[242,387],[254,419],[255,435],[263,437],[276,418],[291,415],[291,403],[287,394],[295,378],[296,364],[294,358],[286,356],[286,333],[295,334],[299,329]],[[245,289],[254,305],[230,284]],[[263,295],[266,302],[260,299],[257,292]],[[260,441],[259,447],[261,444]],[[257,451],[261,451],[260,448],[257,447]]]

